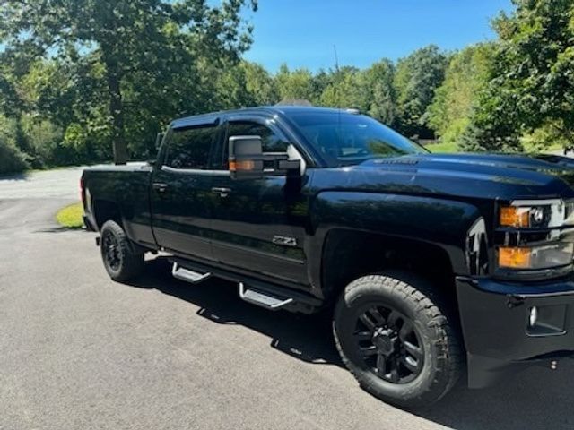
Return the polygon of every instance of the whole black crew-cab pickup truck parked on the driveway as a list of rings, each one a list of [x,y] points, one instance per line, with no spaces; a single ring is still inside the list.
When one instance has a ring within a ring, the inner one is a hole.
[[[414,407],[464,370],[479,388],[574,353],[573,185],[563,157],[431,154],[356,111],[256,107],[177,119],[153,163],[87,168],[82,194],[112,279],[161,251],[180,280],[332,311],[361,386]]]

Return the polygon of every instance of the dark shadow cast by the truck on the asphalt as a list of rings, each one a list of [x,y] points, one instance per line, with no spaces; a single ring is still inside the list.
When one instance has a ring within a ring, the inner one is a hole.
[[[155,288],[200,306],[197,314],[213,323],[240,324],[261,332],[272,339],[272,348],[306,363],[343,366],[335,349],[328,314],[266,311],[243,302],[237,286],[224,280],[188,285],[170,276],[170,264],[161,257],[147,262],[143,276],[129,285]],[[560,366],[556,372],[531,368],[486,390],[468,390],[463,377],[446,398],[415,414],[465,430],[571,429],[574,428],[571,388],[574,361],[562,361]]]

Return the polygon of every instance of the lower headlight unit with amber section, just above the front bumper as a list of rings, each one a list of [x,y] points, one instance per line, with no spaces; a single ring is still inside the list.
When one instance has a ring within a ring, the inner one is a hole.
[[[499,248],[499,267],[502,269],[550,269],[572,262],[574,244],[563,243],[533,247]]]

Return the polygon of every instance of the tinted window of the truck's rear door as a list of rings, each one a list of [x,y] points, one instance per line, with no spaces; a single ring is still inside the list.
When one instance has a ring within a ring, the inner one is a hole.
[[[209,151],[217,127],[183,127],[171,131],[164,166],[170,168],[209,168]]]

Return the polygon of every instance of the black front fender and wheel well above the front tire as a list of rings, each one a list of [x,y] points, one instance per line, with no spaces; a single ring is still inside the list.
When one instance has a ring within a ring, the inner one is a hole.
[[[425,276],[456,299],[457,275],[487,269],[488,253],[475,246],[486,236],[480,202],[327,191],[313,205],[309,276],[328,301],[352,280],[389,269]]]

